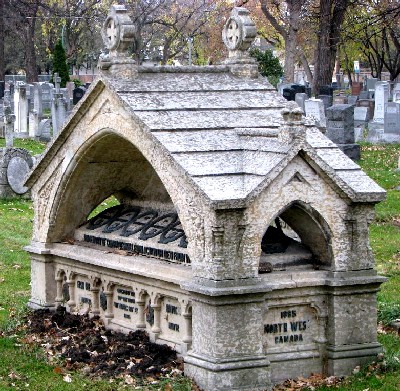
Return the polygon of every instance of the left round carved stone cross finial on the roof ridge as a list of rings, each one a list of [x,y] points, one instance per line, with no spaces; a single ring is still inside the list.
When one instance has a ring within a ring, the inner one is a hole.
[[[113,5],[104,22],[103,41],[110,52],[124,53],[135,38],[135,25],[124,5]]]

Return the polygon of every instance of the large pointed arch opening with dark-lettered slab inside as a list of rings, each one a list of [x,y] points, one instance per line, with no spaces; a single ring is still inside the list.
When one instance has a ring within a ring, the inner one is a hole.
[[[189,262],[176,208],[138,148],[107,131],[86,142],[75,161],[61,184],[51,241],[72,239]],[[110,207],[91,214],[111,196]]]

